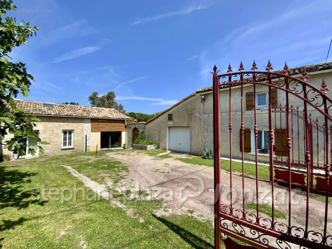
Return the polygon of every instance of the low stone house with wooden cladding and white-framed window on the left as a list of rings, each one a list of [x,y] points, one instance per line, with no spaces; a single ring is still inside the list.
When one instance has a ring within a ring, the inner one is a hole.
[[[40,119],[34,131],[42,141],[49,142],[42,146],[45,150],[43,155],[121,148],[126,143],[126,124],[131,118],[115,109],[20,99],[14,101],[18,108],[28,110]],[[6,135],[4,141],[11,135]],[[27,144],[37,145],[34,139],[28,139]],[[35,156],[40,155],[36,151]],[[0,153],[15,158],[3,145],[0,145]],[[24,157],[31,156],[26,153]]]

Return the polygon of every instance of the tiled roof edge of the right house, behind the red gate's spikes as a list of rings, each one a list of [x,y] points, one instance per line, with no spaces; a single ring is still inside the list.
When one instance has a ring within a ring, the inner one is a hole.
[[[316,72],[316,71],[323,71],[323,70],[328,70],[328,69],[332,69],[332,62],[319,63],[319,64],[313,64],[313,65],[305,66],[305,70],[307,71],[307,73]],[[290,73],[289,73],[290,76],[299,75],[303,72],[303,66],[290,68],[289,70],[290,70]],[[282,71],[283,70],[277,70],[277,71],[273,71],[273,72],[282,73]],[[248,77],[248,78],[246,78],[246,80],[250,80],[250,78],[252,78],[252,77]],[[277,78],[277,77],[272,77],[272,78]],[[259,80],[262,80],[262,79],[263,78],[257,79],[257,80],[259,81]],[[236,80],[234,80],[233,82],[236,82]],[[224,87],[220,86],[219,88],[226,88],[226,87],[228,87],[228,86],[224,86]],[[212,91],[212,90],[213,90],[213,86],[208,86],[208,87],[198,89],[196,91],[196,93],[203,93],[203,92],[208,92],[208,91]]]

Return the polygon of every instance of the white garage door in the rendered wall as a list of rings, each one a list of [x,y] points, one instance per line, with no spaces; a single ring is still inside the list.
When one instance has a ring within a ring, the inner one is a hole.
[[[168,149],[190,153],[189,127],[169,127]]]

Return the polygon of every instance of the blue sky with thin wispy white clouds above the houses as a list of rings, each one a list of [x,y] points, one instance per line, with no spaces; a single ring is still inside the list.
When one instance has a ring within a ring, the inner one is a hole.
[[[28,100],[90,105],[93,91],[114,91],[129,112],[162,111],[211,85],[214,64],[226,73],[241,60],[249,70],[253,59],[261,70],[268,59],[276,70],[325,62],[332,37],[330,0],[14,4],[11,16],[40,29],[11,53],[36,80]]]

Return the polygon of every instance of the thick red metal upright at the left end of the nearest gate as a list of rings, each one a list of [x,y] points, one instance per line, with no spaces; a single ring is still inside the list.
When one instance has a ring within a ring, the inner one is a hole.
[[[220,115],[219,78],[213,67],[214,248],[220,249]]]

